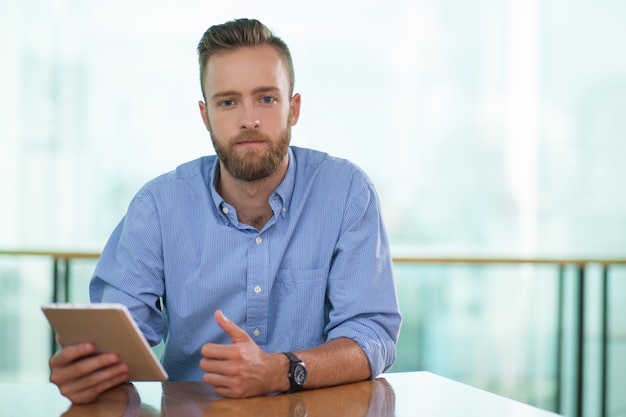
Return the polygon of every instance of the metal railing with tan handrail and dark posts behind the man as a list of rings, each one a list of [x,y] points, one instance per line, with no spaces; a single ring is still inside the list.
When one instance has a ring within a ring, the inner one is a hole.
[[[0,256],[36,256],[47,257],[52,260],[52,302],[69,302],[70,269],[74,259],[97,259],[100,253],[96,252],[62,252],[62,251],[31,251],[31,250],[0,250]],[[584,399],[584,360],[585,360],[585,316],[587,314],[587,304],[585,302],[585,271],[589,265],[598,265],[601,268],[601,301],[600,301],[600,410],[599,416],[607,415],[607,388],[608,388],[608,326],[609,326],[609,270],[614,266],[626,266],[626,259],[598,259],[598,258],[525,258],[525,257],[394,257],[394,264],[467,264],[467,265],[555,265],[558,267],[558,312],[557,318],[557,398],[556,411],[561,408],[561,380],[563,351],[563,310],[564,310],[564,281],[566,268],[573,268],[575,271],[576,292],[574,303],[576,314],[575,321],[575,415],[583,415]],[[52,338],[52,351],[56,349],[56,341]]]

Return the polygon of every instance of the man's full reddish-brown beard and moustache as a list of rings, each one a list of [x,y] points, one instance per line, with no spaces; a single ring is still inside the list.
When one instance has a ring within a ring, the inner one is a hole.
[[[234,178],[243,181],[259,181],[269,177],[287,155],[291,142],[291,118],[280,133],[278,141],[256,130],[245,130],[228,141],[222,141],[211,133],[215,153],[224,168]],[[237,149],[241,142],[263,142],[265,146],[256,149]]]

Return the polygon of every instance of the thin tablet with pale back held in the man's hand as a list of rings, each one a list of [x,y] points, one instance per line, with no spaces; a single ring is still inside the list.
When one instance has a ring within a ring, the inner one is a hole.
[[[131,381],[166,381],[167,373],[123,304],[47,304],[41,307],[64,345],[92,342],[96,353],[117,353]]]

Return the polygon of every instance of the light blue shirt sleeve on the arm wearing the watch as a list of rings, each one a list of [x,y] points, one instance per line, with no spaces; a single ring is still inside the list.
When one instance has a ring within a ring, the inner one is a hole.
[[[327,339],[355,340],[376,377],[395,361],[402,319],[380,204],[360,171],[345,207],[329,275]]]

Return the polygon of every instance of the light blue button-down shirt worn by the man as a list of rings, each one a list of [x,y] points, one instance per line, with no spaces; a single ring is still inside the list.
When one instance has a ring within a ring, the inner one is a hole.
[[[216,191],[216,156],[148,182],[113,231],[92,302],[128,306],[146,339],[165,340],[170,380],[201,380],[203,344],[230,343],[221,309],[267,352],[355,340],[372,376],[395,360],[401,317],[376,192],[352,163],[291,147],[261,231]],[[161,303],[161,300],[163,301]]]

